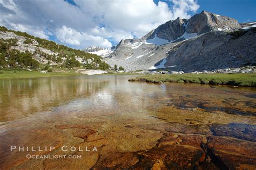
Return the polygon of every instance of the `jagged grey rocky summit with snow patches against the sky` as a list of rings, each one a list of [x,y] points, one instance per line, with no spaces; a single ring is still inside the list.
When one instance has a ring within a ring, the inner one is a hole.
[[[169,43],[177,39],[182,40],[186,39],[186,37],[194,37],[197,34],[210,31],[231,31],[238,30],[240,27],[238,21],[233,18],[203,10],[188,20],[181,19],[180,17],[170,20],[146,34],[143,39],[149,40],[149,42],[163,39],[166,40],[165,43]]]

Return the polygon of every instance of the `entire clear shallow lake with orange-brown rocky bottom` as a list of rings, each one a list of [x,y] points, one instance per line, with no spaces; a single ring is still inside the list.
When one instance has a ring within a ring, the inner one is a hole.
[[[0,169],[256,168],[255,88],[133,77],[0,80]]]

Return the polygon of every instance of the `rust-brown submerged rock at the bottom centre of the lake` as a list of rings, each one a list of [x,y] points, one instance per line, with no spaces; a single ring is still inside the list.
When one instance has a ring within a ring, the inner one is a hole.
[[[166,134],[157,146],[139,152],[115,152],[103,155],[95,169],[192,169],[205,159],[200,147],[203,137]]]

